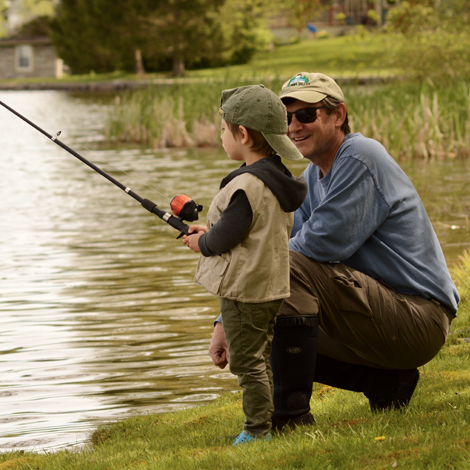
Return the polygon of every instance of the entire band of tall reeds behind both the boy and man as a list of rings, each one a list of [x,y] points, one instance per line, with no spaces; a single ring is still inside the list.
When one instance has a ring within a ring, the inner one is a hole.
[[[110,110],[109,141],[153,148],[216,147],[223,89],[263,83],[279,92],[279,77],[225,79],[152,86],[124,93]],[[465,82],[436,88],[399,82],[341,83],[353,132],[381,142],[398,160],[470,155],[470,88]]]

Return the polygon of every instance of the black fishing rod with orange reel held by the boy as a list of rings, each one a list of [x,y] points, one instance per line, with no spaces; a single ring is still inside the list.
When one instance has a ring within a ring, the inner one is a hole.
[[[62,147],[74,157],[78,158],[81,162],[85,163],[85,165],[88,165],[91,169],[95,170],[101,176],[104,176],[108,181],[111,181],[111,183],[116,185],[118,188],[122,189],[126,194],[133,197],[136,201],[140,202],[140,204],[149,212],[155,214],[157,217],[160,217],[160,219],[162,219],[168,225],[171,225],[176,230],[179,230],[180,234],[176,238],[180,238],[183,235],[189,235],[189,225],[185,224],[183,220],[186,220],[188,222],[194,222],[195,220],[198,220],[198,213],[202,211],[202,206],[200,204],[195,203],[190,197],[185,196],[184,194],[176,195],[170,202],[170,207],[174,214],[171,215],[170,213],[160,209],[154,202],[150,201],[149,199],[144,199],[140,197],[130,188],[120,183],[117,179],[113,178],[111,175],[108,175],[108,173],[105,173],[94,163],[91,163],[86,158],[82,157],[79,153],[77,153],[75,150],[71,149],[69,146],[61,142],[57,138],[61,134],[61,131],[57,132],[56,135],[52,136],[51,134],[47,133],[45,130],[41,129],[39,126],[31,122],[29,119],[21,115],[19,112],[15,111],[13,108],[10,108],[10,106],[6,105],[3,101],[0,101],[0,105],[2,105],[11,113],[13,113],[15,116],[18,116],[30,126],[34,127],[34,129],[39,131],[41,134],[45,135],[48,139],[52,140],[52,142],[57,144],[59,147]]]

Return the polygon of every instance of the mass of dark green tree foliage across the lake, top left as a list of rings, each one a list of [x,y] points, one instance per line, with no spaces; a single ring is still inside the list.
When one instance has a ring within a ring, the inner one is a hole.
[[[52,24],[73,73],[149,71],[248,61],[268,36],[266,0],[62,0]]]

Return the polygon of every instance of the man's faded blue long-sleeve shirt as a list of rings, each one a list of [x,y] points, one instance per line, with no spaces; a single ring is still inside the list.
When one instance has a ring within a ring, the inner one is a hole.
[[[303,176],[309,190],[295,212],[290,249],[457,310],[459,295],[423,203],[380,143],[348,134],[325,177],[313,164]]]

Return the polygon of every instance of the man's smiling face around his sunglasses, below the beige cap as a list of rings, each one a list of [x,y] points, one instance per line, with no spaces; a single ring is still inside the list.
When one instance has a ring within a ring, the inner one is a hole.
[[[294,101],[286,105],[288,113],[295,113],[304,108],[318,108],[321,102],[306,103],[305,101]],[[322,157],[335,141],[335,114],[327,114],[327,109],[316,110],[316,120],[310,123],[302,123],[295,114],[292,114],[292,121],[289,125],[287,135],[292,140],[300,153],[309,160]],[[302,119],[302,113],[300,118]]]

